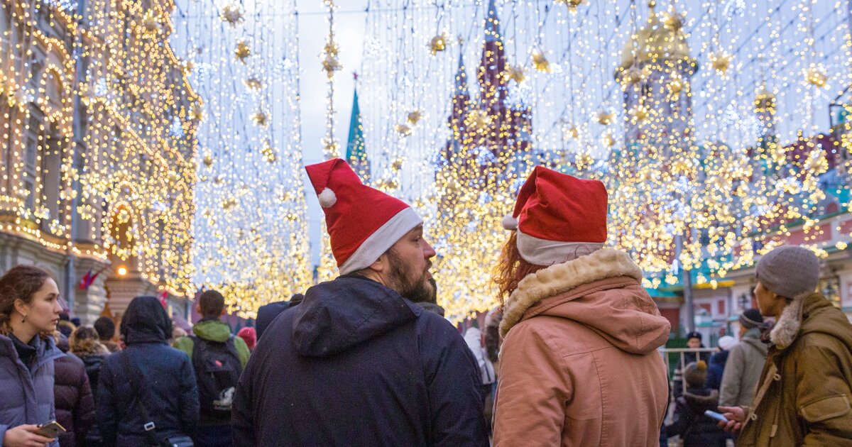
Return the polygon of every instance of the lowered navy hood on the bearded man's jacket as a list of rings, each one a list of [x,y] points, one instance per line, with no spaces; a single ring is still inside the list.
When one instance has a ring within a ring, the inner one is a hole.
[[[296,352],[327,357],[412,321],[425,312],[371,279],[342,276],[308,289],[292,311]]]

